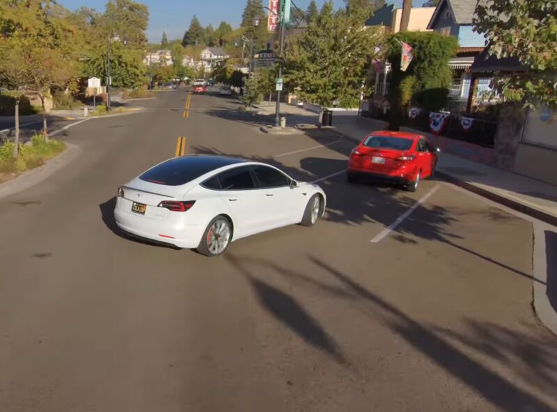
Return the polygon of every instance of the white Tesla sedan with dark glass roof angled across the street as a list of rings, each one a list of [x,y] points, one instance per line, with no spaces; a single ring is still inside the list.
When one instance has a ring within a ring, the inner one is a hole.
[[[114,217],[136,237],[217,256],[230,241],[324,214],[317,184],[231,157],[189,155],[157,164],[118,188]]]

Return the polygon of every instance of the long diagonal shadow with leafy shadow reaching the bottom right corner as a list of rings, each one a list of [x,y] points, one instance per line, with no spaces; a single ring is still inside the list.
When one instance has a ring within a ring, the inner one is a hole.
[[[313,256],[309,259],[316,267],[322,269],[324,275],[335,278],[343,285],[343,289],[354,294],[352,299],[359,301],[361,310],[367,312],[370,317],[379,319],[414,349],[420,351],[455,379],[462,381],[489,403],[503,411],[555,411],[542,399],[519,388],[514,381],[505,379],[465,354],[446,337],[459,340],[460,343],[489,356],[494,361],[506,363],[505,359],[508,360],[511,356],[520,359],[521,367],[527,370],[521,374],[521,377],[528,383],[535,379],[542,385],[547,395],[557,393],[555,384],[557,350],[554,340],[550,338],[532,340],[529,335],[505,328],[494,328],[492,324],[471,324],[470,333],[465,335],[429,324],[421,324],[347,274]],[[521,368],[516,369],[520,373]]]

